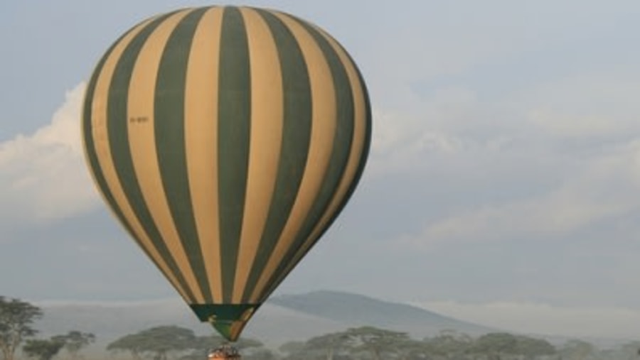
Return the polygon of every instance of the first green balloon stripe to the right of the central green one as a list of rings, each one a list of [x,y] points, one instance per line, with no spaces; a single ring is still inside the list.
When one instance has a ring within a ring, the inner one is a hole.
[[[287,26],[268,11],[257,10],[274,38],[284,92],[282,151],[265,230],[260,239],[243,300],[247,301],[277,244],[297,197],[311,141],[311,84],[297,40]]]

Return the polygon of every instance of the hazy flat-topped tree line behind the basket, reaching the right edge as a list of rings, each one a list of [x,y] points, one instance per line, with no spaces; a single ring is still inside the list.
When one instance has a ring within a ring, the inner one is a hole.
[[[107,346],[132,359],[204,360],[207,350],[223,344],[221,337],[197,337],[190,329],[153,327],[125,335]],[[636,360],[640,342],[601,350],[578,339],[556,347],[545,339],[508,332],[471,337],[443,330],[414,339],[406,332],[353,327],[306,341],[287,342],[277,350],[256,339],[235,344],[244,360]]]

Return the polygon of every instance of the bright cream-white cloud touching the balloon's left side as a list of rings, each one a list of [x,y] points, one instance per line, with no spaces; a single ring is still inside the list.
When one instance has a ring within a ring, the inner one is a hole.
[[[40,222],[73,217],[97,204],[80,141],[85,84],[65,96],[50,124],[0,143],[3,221]]]

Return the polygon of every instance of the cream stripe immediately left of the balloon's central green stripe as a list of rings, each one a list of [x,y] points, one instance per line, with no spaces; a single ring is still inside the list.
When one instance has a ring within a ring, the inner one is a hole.
[[[218,54],[220,8],[201,18],[189,54],[185,92],[186,163],[193,216],[213,302],[223,301],[218,209]]]

